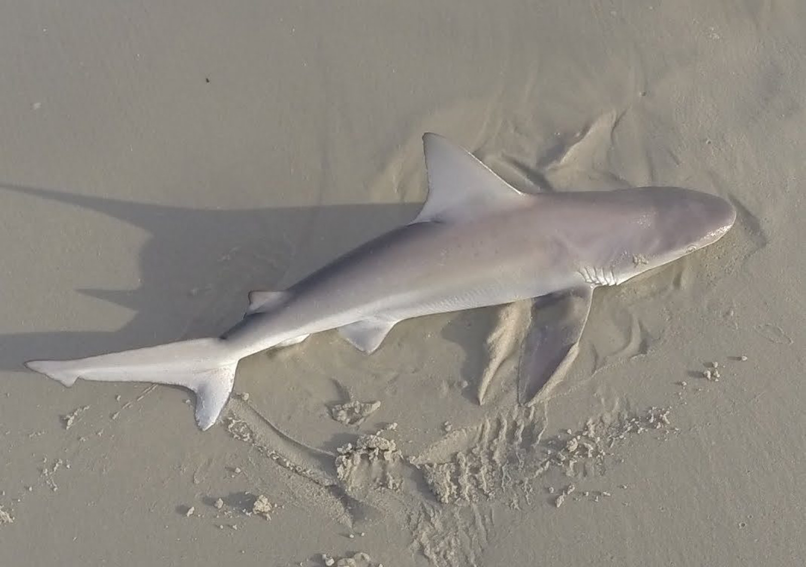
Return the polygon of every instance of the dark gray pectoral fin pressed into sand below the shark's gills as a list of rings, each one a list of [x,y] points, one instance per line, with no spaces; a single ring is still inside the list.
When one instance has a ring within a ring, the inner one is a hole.
[[[574,361],[592,294],[592,288],[585,286],[534,300],[517,375],[521,404],[532,404],[546,383],[562,377]]]

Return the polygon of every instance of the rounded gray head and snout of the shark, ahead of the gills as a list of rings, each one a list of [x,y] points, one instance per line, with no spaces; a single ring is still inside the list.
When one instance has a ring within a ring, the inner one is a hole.
[[[679,187],[647,187],[639,193],[642,214],[625,248],[628,277],[713,244],[736,220],[733,205],[715,195]]]

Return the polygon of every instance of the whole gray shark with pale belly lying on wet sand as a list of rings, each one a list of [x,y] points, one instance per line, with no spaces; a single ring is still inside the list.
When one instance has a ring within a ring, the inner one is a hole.
[[[429,194],[416,219],[282,291],[254,291],[218,338],[73,361],[29,361],[64,386],[77,378],[184,386],[211,427],[240,359],[338,329],[371,353],[403,319],[532,300],[518,401],[534,402],[574,360],[593,290],[617,286],[725,235],[722,198],[677,187],[523,194],[442,136],[423,136]]]

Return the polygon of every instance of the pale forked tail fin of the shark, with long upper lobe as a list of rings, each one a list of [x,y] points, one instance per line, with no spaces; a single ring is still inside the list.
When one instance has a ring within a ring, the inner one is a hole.
[[[25,365],[64,386],[77,378],[184,386],[196,394],[196,423],[210,428],[230,398],[238,358],[220,339],[183,340],[75,361],[30,361]]]

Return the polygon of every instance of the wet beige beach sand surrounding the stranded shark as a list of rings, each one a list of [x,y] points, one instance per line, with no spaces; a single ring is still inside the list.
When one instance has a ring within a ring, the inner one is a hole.
[[[804,2],[0,13],[2,565],[802,562]],[[183,390],[22,369],[226,329],[413,218],[426,130],[521,190],[685,186],[737,225],[597,290],[530,410],[523,306],[252,356],[204,433]]]

